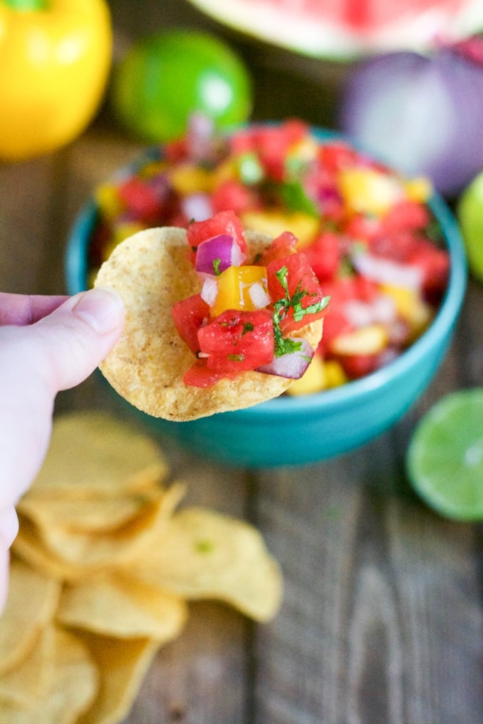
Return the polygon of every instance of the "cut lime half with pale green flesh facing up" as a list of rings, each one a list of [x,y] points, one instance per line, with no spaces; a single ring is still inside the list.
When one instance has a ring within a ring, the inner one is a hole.
[[[406,468],[413,488],[438,513],[483,520],[483,387],[446,395],[426,413]]]

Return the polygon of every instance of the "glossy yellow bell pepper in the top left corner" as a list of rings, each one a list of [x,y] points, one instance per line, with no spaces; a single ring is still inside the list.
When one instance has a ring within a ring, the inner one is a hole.
[[[98,109],[111,61],[105,0],[0,0],[0,159],[76,138]]]

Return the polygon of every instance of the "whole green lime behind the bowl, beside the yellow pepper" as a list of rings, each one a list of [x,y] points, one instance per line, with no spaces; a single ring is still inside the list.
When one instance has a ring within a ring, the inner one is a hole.
[[[122,125],[149,143],[179,138],[200,113],[217,128],[251,114],[251,77],[226,43],[196,30],[143,38],[114,67],[112,104]]]

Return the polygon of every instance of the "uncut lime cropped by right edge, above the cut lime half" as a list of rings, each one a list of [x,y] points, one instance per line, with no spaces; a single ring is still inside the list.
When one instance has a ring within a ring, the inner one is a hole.
[[[483,281],[483,172],[464,190],[456,213],[469,268],[477,279]]]

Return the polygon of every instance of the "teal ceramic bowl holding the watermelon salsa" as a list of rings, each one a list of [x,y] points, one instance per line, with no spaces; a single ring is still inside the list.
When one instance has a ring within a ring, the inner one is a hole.
[[[274,468],[332,458],[374,439],[395,424],[428,387],[448,350],[466,290],[466,256],[453,214],[439,196],[430,202],[450,253],[450,281],[433,323],[411,348],[378,371],[342,387],[304,397],[279,397],[253,408],[190,422],[140,416],[165,439],[229,466]],[[88,202],[70,234],[67,289],[85,290],[88,249],[97,209]]]

